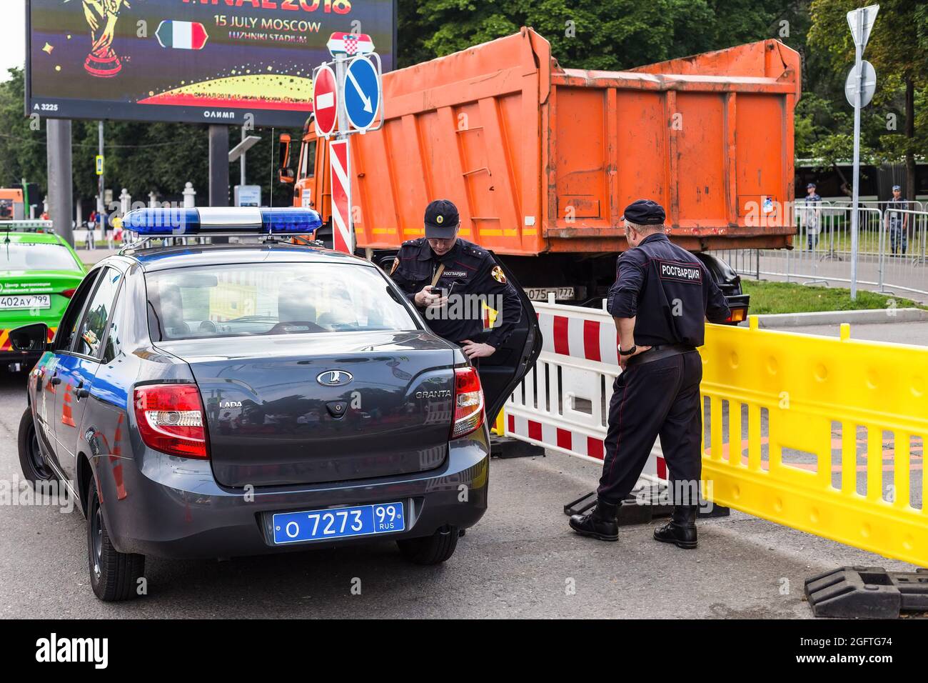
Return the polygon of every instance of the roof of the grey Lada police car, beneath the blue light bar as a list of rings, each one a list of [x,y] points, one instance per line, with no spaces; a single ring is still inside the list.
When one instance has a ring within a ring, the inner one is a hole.
[[[137,261],[146,271],[186,266],[293,261],[373,265],[364,258],[350,256],[325,247],[290,243],[197,244],[128,248],[122,251],[120,256]]]

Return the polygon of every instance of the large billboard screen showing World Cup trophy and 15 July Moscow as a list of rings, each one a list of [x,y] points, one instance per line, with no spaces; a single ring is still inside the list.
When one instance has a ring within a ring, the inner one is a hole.
[[[395,59],[394,0],[29,0],[26,26],[27,113],[51,118],[299,127],[331,33]]]

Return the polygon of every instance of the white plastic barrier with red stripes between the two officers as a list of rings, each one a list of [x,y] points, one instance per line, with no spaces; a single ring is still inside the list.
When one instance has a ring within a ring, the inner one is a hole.
[[[612,383],[621,371],[618,334],[605,310],[535,302],[544,338],[535,367],[504,408],[506,436],[602,462]],[[655,443],[645,482],[667,478]]]

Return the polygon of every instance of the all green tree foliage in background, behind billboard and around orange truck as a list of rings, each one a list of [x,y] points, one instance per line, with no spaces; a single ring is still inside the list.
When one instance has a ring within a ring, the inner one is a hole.
[[[779,38],[803,60],[803,98],[795,112],[797,157],[831,165],[850,156],[853,110],[844,100],[844,76],[854,50],[844,18],[871,0],[398,0],[398,65],[409,66],[532,26],[551,43],[561,65],[620,70],[767,38]],[[928,4],[880,0],[867,58],[879,85],[862,117],[862,153],[879,163],[928,150]],[[906,135],[906,83],[915,85]],[[23,116],[23,74],[0,83],[0,187],[26,177],[45,190],[45,125],[33,131]],[[895,116],[896,129],[888,122]],[[887,118],[889,117],[889,118]],[[276,131],[279,134],[281,131]],[[299,140],[299,131],[290,131]],[[276,145],[271,131],[248,154],[248,179],[274,189],[289,204],[289,186],[272,178]],[[238,129],[230,143],[238,142]],[[276,135],[274,137],[276,137]],[[94,156],[97,122],[72,126],[74,193],[97,193]],[[177,196],[187,181],[208,196],[208,126],[108,122],[108,185],[137,200],[148,192]],[[295,148],[294,148],[295,149]],[[238,164],[230,168],[238,183]]]

